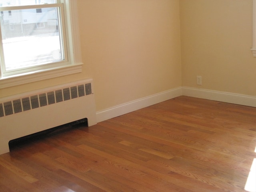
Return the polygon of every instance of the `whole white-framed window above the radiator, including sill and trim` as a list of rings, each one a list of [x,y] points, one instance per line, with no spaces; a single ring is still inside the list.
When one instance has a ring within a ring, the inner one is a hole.
[[[76,0],[0,0],[0,88],[81,72],[75,8]]]

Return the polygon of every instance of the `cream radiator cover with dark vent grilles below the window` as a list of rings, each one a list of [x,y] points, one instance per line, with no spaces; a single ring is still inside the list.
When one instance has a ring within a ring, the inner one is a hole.
[[[0,154],[10,140],[84,118],[96,124],[92,79],[0,98]]]

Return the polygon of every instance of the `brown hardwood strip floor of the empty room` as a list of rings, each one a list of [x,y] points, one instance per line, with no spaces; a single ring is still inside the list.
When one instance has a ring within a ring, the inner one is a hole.
[[[0,155],[0,191],[244,192],[254,159],[256,108],[180,96]]]

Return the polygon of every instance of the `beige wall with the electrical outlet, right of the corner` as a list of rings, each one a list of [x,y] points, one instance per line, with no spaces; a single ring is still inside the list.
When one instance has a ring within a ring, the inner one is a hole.
[[[182,86],[256,96],[252,0],[181,0],[180,20]]]

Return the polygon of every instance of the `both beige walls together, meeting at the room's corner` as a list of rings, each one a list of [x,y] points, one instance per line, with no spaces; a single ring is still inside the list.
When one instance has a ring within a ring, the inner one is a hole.
[[[83,72],[0,97],[89,77],[97,111],[179,86],[256,96],[252,0],[78,0],[78,16]]]

